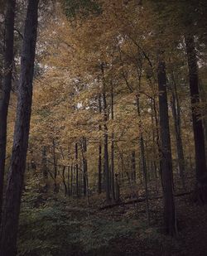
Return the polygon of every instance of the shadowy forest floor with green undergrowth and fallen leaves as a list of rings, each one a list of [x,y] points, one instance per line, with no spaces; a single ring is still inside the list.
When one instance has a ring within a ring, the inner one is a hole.
[[[190,195],[176,197],[179,234],[173,239],[161,230],[161,199],[150,200],[148,226],[145,202],[100,210],[103,198],[91,196],[88,208],[85,198],[26,191],[18,255],[207,256],[207,205],[196,205]]]

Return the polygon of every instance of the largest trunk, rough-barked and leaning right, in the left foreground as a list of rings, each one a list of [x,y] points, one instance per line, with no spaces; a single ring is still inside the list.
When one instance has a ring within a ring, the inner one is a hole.
[[[18,88],[17,118],[12,147],[12,159],[8,172],[6,199],[2,212],[2,228],[0,235],[1,256],[14,256],[17,254],[17,228],[31,119],[38,3],[38,0],[29,0],[26,13],[21,75]]]

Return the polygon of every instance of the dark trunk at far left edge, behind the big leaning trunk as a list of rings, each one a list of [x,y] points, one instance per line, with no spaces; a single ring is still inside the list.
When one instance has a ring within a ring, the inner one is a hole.
[[[4,78],[2,83],[2,99],[0,99],[0,224],[2,216],[3,180],[5,171],[5,158],[7,147],[7,112],[12,89],[12,66],[13,66],[13,37],[15,0],[7,1],[5,17],[5,53],[4,53]]]

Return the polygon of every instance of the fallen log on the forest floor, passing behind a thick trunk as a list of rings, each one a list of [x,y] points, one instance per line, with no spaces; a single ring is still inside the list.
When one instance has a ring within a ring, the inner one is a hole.
[[[192,192],[193,191],[183,192],[183,193],[176,194],[174,196],[178,197],[178,196],[190,195]],[[162,199],[162,196],[151,197],[148,200],[158,200],[158,199]],[[132,200],[118,201],[118,202],[115,202],[115,203],[110,204],[110,205],[103,205],[103,206],[99,207],[99,210],[111,209],[115,206],[121,206],[121,205],[131,205],[131,204],[136,204],[136,203],[142,203],[145,200],[146,200],[145,197],[140,197],[140,198],[136,198],[136,199],[132,199]]]

